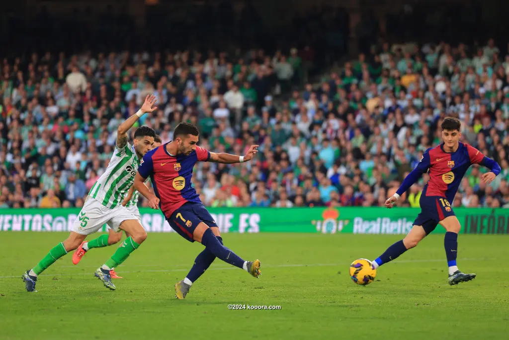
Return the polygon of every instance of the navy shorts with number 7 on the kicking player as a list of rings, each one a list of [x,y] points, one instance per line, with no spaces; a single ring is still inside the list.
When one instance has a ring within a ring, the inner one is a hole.
[[[202,203],[187,202],[173,212],[172,216],[166,219],[169,225],[177,231],[180,236],[189,242],[194,242],[192,235],[194,229],[201,223],[209,227],[217,227],[216,221],[212,218],[207,208]]]

